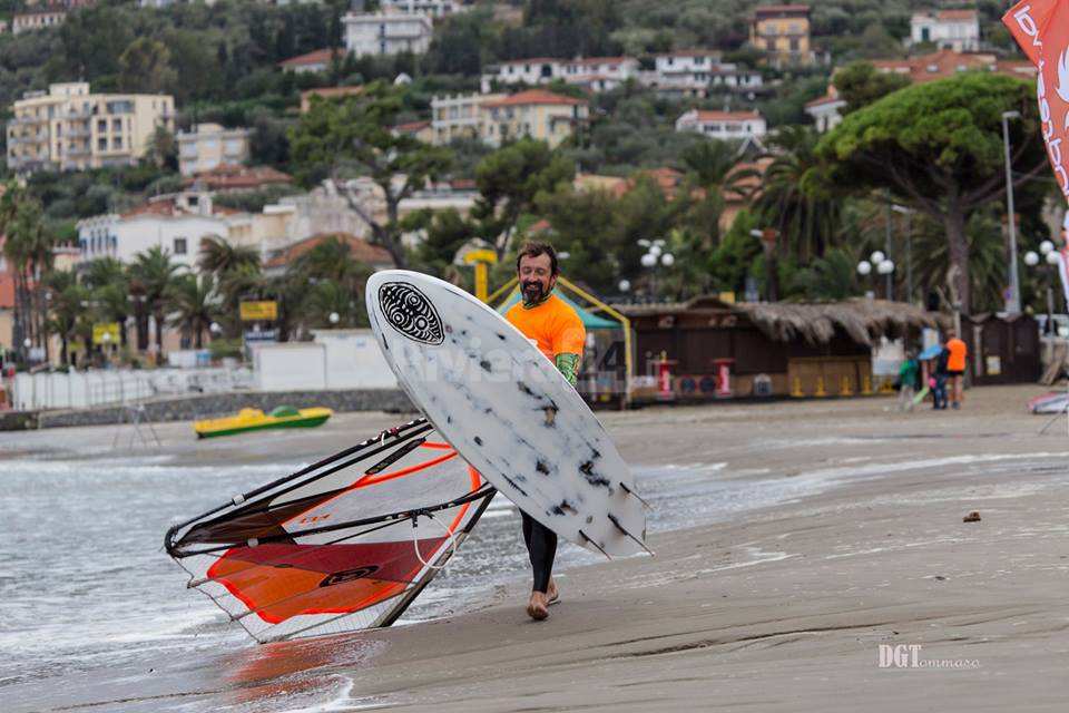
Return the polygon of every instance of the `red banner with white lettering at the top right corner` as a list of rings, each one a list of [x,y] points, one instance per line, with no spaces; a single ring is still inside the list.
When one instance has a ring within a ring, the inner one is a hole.
[[[1024,0],[1002,21],[1039,67],[1043,141],[1058,189],[1069,201],[1069,0]]]

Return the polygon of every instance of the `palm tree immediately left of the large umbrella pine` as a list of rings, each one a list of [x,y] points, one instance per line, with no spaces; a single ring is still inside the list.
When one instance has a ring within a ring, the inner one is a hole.
[[[840,234],[842,203],[826,191],[814,155],[816,134],[786,127],[772,139],[778,153],[762,179],[754,206],[758,224],[779,231],[800,262],[824,254]]]

